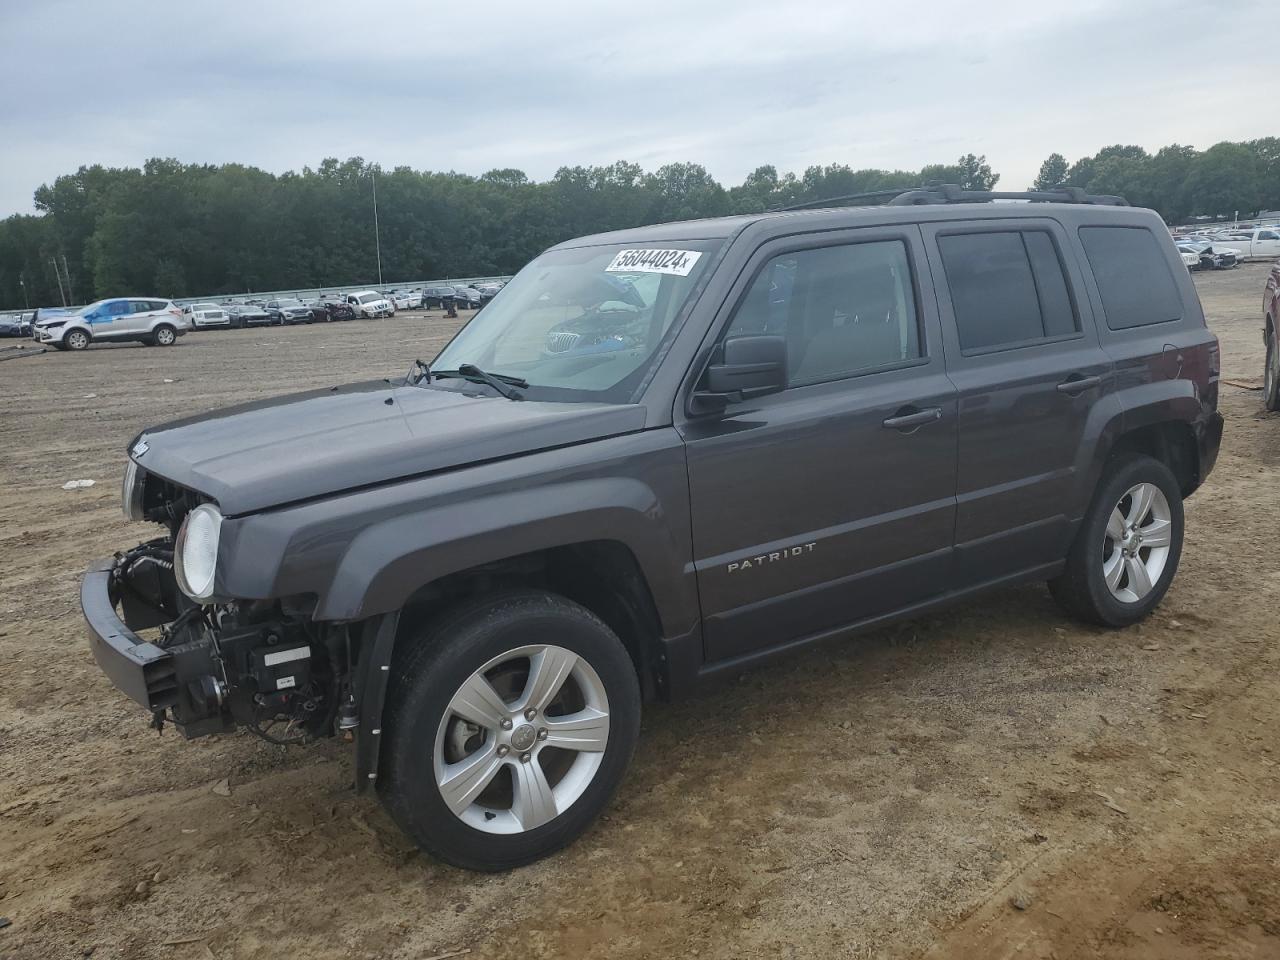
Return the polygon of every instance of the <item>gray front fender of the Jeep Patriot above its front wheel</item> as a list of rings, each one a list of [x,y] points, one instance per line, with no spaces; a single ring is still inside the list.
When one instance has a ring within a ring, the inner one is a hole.
[[[311,595],[316,620],[399,609],[462,570],[576,543],[635,557],[666,636],[692,630],[689,481],[669,428],[381,484],[223,526],[221,593]]]

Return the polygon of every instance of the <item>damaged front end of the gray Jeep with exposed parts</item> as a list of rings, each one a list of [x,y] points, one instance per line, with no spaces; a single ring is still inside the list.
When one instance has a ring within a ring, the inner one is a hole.
[[[186,737],[243,726],[287,744],[356,726],[344,680],[352,660],[348,628],[312,621],[305,598],[216,598],[216,557],[207,577],[197,570],[207,544],[193,541],[209,536],[198,529],[201,511],[220,521],[198,494],[147,477],[131,460],[125,516],[160,522],[169,535],[86,572],[81,607],[99,666],[151,712],[157,730],[170,721]]]

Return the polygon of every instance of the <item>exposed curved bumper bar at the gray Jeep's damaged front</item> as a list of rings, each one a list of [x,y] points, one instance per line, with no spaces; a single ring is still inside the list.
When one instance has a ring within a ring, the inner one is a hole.
[[[178,700],[173,657],[129,630],[115,612],[115,561],[100,561],[81,581],[81,611],[88,645],[102,672],[122,692],[161,710]]]

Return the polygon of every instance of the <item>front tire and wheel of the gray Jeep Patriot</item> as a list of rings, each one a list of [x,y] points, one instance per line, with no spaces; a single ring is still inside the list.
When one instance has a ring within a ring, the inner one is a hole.
[[[549,696],[527,682],[535,660],[559,678]],[[483,704],[471,716],[488,723],[468,724],[456,712],[465,685],[498,690],[497,700],[471,701]],[[547,719],[521,712],[529,698],[550,707]],[[558,748],[554,722],[570,716],[591,727],[579,727],[576,742],[594,732],[604,749]],[[506,870],[568,845],[608,804],[639,736],[640,686],[631,657],[595,614],[553,594],[511,593],[454,608],[420,631],[392,667],[383,726],[378,792],[396,823],[445,863]],[[488,772],[485,786],[460,790],[451,806],[438,778],[472,758]]]

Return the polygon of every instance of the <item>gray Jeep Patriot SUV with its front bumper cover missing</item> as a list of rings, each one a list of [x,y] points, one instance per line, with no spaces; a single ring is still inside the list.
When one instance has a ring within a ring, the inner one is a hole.
[[[1028,581],[1144,617],[1217,380],[1169,232],[1115,197],[586,237],[403,379],[142,433],[124,512],[164,535],[81,603],[156,727],[349,735],[417,844],[503,869],[600,813],[646,698]]]

